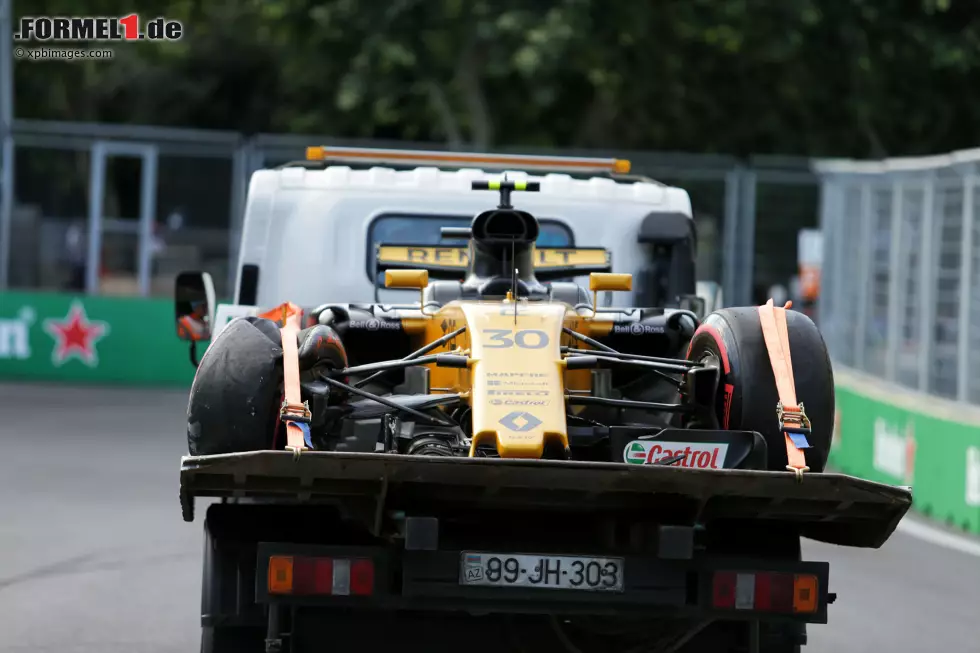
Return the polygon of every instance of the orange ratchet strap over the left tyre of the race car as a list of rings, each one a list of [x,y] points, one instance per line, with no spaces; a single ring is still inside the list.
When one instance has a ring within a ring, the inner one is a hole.
[[[312,448],[310,441],[309,404],[300,401],[299,346],[297,344],[303,310],[286,302],[260,317],[279,323],[282,336],[283,402],[279,419],[286,425],[286,449],[299,456],[301,451]]]

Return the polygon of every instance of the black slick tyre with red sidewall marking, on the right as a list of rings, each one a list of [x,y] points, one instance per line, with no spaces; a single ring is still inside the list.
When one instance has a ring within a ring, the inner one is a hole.
[[[820,331],[798,311],[786,311],[797,401],[811,422],[810,448],[803,449],[811,472],[827,464],[834,431],[834,373]],[[776,418],[779,395],[762,336],[758,308],[725,308],[711,313],[691,339],[688,360],[718,361],[721,372],[716,410],[723,429],[756,431],[766,440],[768,469],[784,471],[785,437]]]

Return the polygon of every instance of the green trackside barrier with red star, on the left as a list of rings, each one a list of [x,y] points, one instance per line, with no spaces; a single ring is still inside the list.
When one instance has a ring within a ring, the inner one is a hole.
[[[172,301],[0,293],[0,381],[189,387],[194,370]]]

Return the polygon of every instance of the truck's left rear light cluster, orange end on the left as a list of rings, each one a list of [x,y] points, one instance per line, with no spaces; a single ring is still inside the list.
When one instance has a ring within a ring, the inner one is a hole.
[[[270,556],[269,593],[296,596],[369,596],[374,561],[369,558]]]

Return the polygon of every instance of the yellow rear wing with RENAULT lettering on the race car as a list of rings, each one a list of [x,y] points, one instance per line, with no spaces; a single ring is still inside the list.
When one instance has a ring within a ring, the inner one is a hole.
[[[432,279],[462,280],[470,262],[468,246],[397,245],[375,250],[378,274],[384,270],[428,270]],[[541,281],[612,272],[612,254],[602,247],[539,247],[534,250],[534,276]]]

